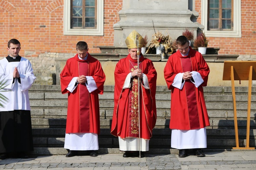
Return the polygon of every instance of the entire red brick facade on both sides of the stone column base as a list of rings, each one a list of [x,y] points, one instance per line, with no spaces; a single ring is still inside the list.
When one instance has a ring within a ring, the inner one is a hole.
[[[20,55],[38,56],[45,52],[74,53],[77,41],[88,43],[90,53],[98,46],[112,46],[113,24],[119,21],[123,0],[104,0],[104,36],[63,35],[64,0],[1,0],[0,56],[8,54],[7,42],[17,38]],[[201,0],[195,0],[201,22]],[[208,37],[208,47],[219,47],[219,54],[256,55],[256,1],[241,0],[242,37]]]

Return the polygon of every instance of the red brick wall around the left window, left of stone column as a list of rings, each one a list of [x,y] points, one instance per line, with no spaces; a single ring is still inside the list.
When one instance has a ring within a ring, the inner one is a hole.
[[[113,24],[119,21],[122,0],[104,0],[104,36],[63,35],[64,0],[1,0],[0,57],[8,54],[7,42],[17,38],[21,56],[44,52],[75,52],[77,41],[88,43],[89,52],[100,52],[98,46],[113,45]]]

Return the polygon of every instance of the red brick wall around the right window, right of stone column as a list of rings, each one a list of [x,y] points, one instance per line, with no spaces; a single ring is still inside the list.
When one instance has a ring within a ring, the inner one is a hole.
[[[201,0],[195,1],[201,23]],[[241,38],[208,37],[208,47],[219,47],[219,54],[239,54],[240,58],[256,60],[256,1],[241,0]]]

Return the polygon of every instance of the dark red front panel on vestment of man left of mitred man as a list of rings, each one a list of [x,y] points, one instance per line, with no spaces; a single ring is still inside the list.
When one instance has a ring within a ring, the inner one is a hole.
[[[78,62],[79,75],[89,75],[88,62]],[[80,131],[90,132],[90,115],[89,115],[89,91],[85,85],[78,84],[79,86],[79,105],[80,105]]]

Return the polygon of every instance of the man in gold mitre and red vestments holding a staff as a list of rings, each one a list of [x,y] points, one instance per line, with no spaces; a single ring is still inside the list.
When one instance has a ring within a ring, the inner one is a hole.
[[[139,47],[136,43],[136,35],[138,35]],[[125,42],[129,54],[116,64],[114,72],[114,112],[111,134],[118,137],[120,151],[125,151],[123,157],[131,157],[139,156],[140,151],[148,151],[148,143],[156,124],[157,73],[152,61],[144,58],[141,53],[138,67],[137,49],[139,48],[141,52],[144,39],[137,31],[133,30]],[[138,78],[140,78],[139,82]],[[138,83],[140,83],[140,94],[138,94]],[[140,111],[138,105],[140,105]],[[142,156],[144,156],[143,153]]]

